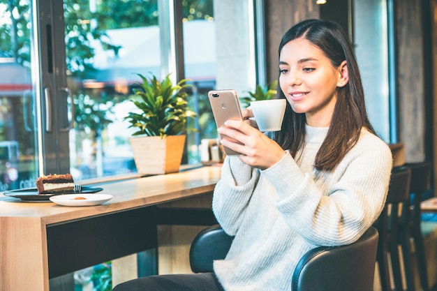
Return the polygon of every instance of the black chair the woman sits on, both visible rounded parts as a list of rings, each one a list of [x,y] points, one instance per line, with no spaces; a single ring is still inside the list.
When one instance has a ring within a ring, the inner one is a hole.
[[[225,258],[232,239],[218,225],[200,232],[191,244],[193,272],[213,271],[213,261]],[[312,249],[297,263],[290,290],[373,290],[377,246],[378,231],[371,227],[353,244]]]

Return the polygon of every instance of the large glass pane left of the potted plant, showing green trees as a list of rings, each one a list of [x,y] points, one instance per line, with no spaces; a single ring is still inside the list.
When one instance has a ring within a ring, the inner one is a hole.
[[[156,0],[64,1],[69,87],[75,102],[70,132],[75,180],[135,171],[123,121],[138,73],[160,75]]]

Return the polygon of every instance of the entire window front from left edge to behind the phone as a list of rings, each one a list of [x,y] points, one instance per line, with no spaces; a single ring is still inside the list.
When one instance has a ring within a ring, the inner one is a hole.
[[[207,91],[232,88],[244,96],[255,87],[253,6],[261,2],[0,3],[2,152],[17,145],[13,158],[0,157],[0,189],[32,187],[40,174],[71,172],[81,180],[135,172],[128,143],[133,131],[123,118],[133,109],[128,99],[140,80],[136,74],[176,77],[170,68],[193,84],[189,102],[198,118],[190,126],[198,133],[188,135],[184,162],[200,163],[200,140],[217,137]],[[177,9],[180,43],[166,27]],[[64,19],[35,22],[35,11]],[[182,63],[167,57],[174,51]]]

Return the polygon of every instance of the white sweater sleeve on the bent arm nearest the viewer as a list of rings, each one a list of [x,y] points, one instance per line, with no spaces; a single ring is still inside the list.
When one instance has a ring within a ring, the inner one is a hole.
[[[276,208],[284,221],[309,243],[350,244],[378,218],[390,183],[392,154],[376,138],[356,144],[334,171],[315,174],[329,180],[320,183],[327,188],[320,188],[313,174],[302,172],[290,155],[262,171],[276,188]]]

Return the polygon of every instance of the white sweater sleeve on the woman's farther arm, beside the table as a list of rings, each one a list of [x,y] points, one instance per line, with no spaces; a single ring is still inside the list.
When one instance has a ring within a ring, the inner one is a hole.
[[[237,156],[226,156],[221,179],[214,189],[212,209],[228,234],[235,235],[239,228],[259,176],[259,170],[242,163]]]

